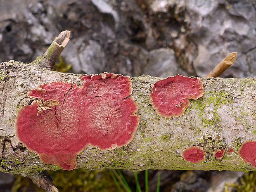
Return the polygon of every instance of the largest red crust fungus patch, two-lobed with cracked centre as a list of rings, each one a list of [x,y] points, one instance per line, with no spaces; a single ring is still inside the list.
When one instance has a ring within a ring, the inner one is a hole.
[[[32,88],[28,96],[36,100],[17,113],[16,137],[45,164],[72,170],[88,145],[115,149],[133,139],[140,116],[137,102],[128,97],[130,77],[102,73],[81,80],[81,88],[63,81]]]

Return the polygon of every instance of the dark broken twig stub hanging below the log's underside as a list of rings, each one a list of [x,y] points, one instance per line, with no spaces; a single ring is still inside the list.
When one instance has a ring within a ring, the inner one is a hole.
[[[33,183],[44,189],[46,192],[59,192],[52,183],[52,178],[47,171],[40,171],[38,173],[32,172],[28,175],[28,178],[31,178]]]

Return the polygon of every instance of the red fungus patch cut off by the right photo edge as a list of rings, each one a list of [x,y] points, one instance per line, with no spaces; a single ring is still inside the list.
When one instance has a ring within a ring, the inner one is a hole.
[[[244,163],[248,162],[256,167],[256,141],[244,142],[238,150],[238,155],[244,160]]]

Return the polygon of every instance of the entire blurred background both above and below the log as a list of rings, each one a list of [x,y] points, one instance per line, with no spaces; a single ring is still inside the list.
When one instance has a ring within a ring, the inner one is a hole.
[[[71,40],[58,71],[206,76],[236,51],[221,77],[256,76],[255,0],[0,0],[0,62],[32,62],[64,30]],[[136,191],[134,174],[122,173]],[[256,191],[254,172],[157,170],[148,172],[149,191],[156,190],[159,173],[164,192]],[[119,190],[109,170],[50,174],[60,191]],[[138,173],[142,191],[144,177],[145,171]],[[38,189],[0,172],[0,192],[10,191]]]

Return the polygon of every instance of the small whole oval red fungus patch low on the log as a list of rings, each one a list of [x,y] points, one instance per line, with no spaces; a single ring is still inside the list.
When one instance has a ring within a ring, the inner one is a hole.
[[[198,163],[199,161],[203,161],[205,159],[205,151],[201,147],[190,146],[183,150],[181,156],[185,159],[185,161]]]

